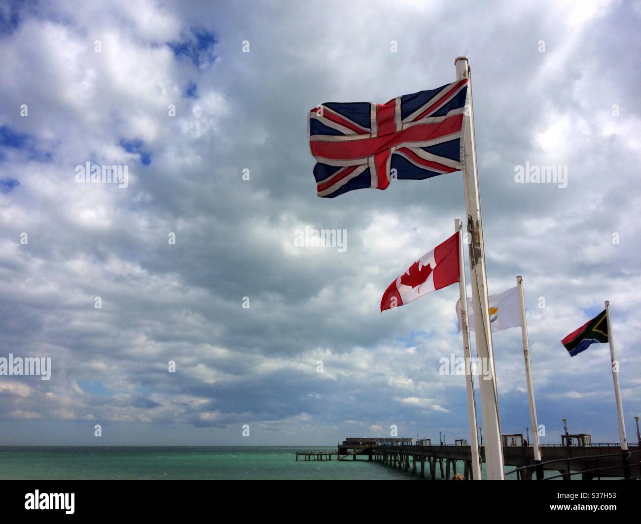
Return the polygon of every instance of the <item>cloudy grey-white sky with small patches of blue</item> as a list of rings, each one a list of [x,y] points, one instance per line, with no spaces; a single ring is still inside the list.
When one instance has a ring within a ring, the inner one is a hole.
[[[0,443],[467,438],[465,381],[439,373],[462,355],[458,288],[379,312],[463,217],[462,174],[319,199],[306,120],[450,83],[465,52],[488,287],[524,277],[542,443],[562,418],[619,440],[608,346],[560,343],[606,299],[635,440],[640,18],[637,1],[4,2],[0,357],[52,370],[0,377]],[[88,161],[127,165],[128,187],[76,183]],[[526,162],[567,166],[567,187],[515,183]],[[305,226],[347,249],[297,247]],[[502,430],[525,432],[520,330],[494,349]]]

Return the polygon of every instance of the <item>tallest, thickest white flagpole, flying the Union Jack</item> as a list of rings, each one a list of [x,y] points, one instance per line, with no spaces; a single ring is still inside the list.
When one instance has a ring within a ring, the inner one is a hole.
[[[481,413],[485,429],[485,463],[488,480],[504,480],[503,443],[499,422],[499,400],[494,373],[494,351],[487,299],[487,275],[483,250],[483,226],[481,224],[481,199],[479,196],[478,172],[476,169],[476,146],[474,145],[474,110],[472,108],[472,80],[465,56],[454,60],[456,78],[467,78],[469,113],[465,129],[465,158],[463,184],[465,188],[465,210],[467,231],[470,234],[470,274],[472,276],[472,305],[474,307],[474,334],[476,354],[488,363],[489,374],[479,380],[481,391]],[[466,108],[467,110],[468,108]]]

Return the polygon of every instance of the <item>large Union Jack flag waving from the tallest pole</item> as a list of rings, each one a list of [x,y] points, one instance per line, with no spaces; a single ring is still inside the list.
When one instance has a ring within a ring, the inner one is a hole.
[[[327,102],[310,110],[319,197],[462,169],[466,102],[462,79],[387,104]]]

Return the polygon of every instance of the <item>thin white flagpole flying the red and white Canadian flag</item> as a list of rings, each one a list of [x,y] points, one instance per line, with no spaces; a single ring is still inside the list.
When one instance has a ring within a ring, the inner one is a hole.
[[[470,331],[467,325],[467,285],[465,284],[465,254],[463,252],[463,223],[456,218],[454,231],[458,231],[458,294],[461,299],[461,331],[463,333],[463,356],[465,357],[465,383],[467,385],[467,418],[470,422],[470,446],[472,448],[472,480],[481,480],[481,457],[479,455],[478,431],[476,430],[476,398],[474,398],[474,374],[471,368]]]

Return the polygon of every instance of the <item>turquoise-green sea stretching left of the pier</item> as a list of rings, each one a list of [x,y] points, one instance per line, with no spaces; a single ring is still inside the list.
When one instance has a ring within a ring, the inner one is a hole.
[[[0,447],[3,480],[420,480],[367,457],[296,461],[296,447]],[[330,448],[298,448],[329,450]],[[461,466],[462,469],[462,466]],[[426,479],[427,480],[427,479]]]

